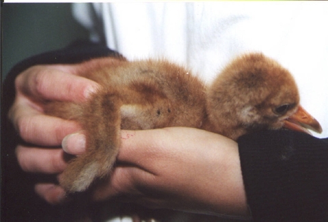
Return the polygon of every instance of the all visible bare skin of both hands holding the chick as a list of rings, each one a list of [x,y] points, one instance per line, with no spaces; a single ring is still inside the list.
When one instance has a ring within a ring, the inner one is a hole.
[[[85,151],[81,127],[46,116],[41,106],[44,100],[85,101],[98,88],[96,82],[79,76],[78,67],[33,66],[16,78],[9,116],[20,136],[33,144],[16,147],[24,171],[60,177],[67,165],[65,151],[74,155]],[[124,130],[121,138],[118,164],[110,179],[94,188],[94,201],[120,197],[152,208],[247,215],[238,145],[233,140],[186,127]],[[60,147],[61,142],[65,151],[47,148]],[[55,184],[36,184],[35,190],[50,204],[67,201]]]

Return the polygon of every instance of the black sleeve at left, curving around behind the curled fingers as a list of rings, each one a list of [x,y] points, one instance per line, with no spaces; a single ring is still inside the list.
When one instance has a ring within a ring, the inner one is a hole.
[[[74,213],[79,208],[50,206],[37,197],[33,185],[40,180],[55,182],[55,177],[40,177],[20,169],[14,151],[20,138],[7,115],[15,97],[14,79],[25,69],[36,64],[76,64],[105,56],[122,57],[105,45],[77,41],[64,49],[27,58],[8,73],[1,87],[1,221],[72,221],[74,215],[83,214],[81,209]]]

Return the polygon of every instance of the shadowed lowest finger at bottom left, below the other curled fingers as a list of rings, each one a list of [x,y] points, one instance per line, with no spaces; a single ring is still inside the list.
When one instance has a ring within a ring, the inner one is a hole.
[[[49,204],[61,204],[66,201],[66,193],[61,186],[55,184],[36,184],[34,190]]]

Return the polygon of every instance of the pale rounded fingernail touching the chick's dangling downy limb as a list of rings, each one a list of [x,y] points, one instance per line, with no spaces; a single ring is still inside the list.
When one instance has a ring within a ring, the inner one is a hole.
[[[85,152],[86,141],[84,134],[69,134],[64,137],[61,141],[61,147],[66,151],[66,153],[79,155]]]

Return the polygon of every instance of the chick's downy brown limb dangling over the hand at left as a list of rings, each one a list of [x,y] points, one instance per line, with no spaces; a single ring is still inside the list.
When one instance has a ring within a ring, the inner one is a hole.
[[[61,118],[77,120],[86,132],[87,150],[70,160],[59,184],[68,193],[81,192],[97,178],[109,175],[120,147],[119,97],[96,93],[87,103],[56,102],[46,110]]]

